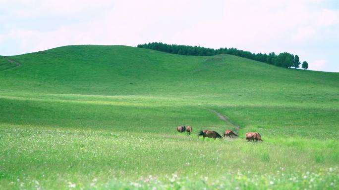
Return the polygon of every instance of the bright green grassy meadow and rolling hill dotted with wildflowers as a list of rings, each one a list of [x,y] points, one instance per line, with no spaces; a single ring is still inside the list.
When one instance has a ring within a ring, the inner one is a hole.
[[[128,46],[7,58],[1,190],[339,189],[339,73]]]

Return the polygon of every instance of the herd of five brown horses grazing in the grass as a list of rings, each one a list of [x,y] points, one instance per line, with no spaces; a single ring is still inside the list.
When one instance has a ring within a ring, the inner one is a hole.
[[[193,131],[193,128],[191,126],[178,126],[176,128],[176,130],[179,132],[179,133],[183,133],[183,132],[187,132],[189,135],[192,133]],[[226,130],[224,132],[224,137],[229,137],[229,138],[233,138],[233,135],[234,136],[238,136],[237,134],[235,134],[232,130]],[[216,139],[216,138],[223,138],[217,131],[211,131],[211,130],[201,130],[199,131],[198,133],[198,136],[201,137],[203,136],[203,138],[205,139],[205,137],[208,137],[208,138],[213,138],[213,139]],[[262,141],[261,139],[261,136],[259,133],[257,132],[248,132],[246,133],[246,140],[247,141]]]

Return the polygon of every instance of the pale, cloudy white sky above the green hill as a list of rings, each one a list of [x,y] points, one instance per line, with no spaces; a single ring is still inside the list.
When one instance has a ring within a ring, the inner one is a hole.
[[[0,55],[153,41],[287,51],[339,72],[339,0],[0,0]]]

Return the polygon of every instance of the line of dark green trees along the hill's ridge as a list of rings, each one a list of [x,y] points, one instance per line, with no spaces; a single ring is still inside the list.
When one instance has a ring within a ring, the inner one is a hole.
[[[212,49],[200,46],[190,46],[190,45],[176,45],[176,44],[166,44],[162,42],[152,42],[152,43],[145,43],[139,44],[137,47],[147,48],[147,49],[154,49],[158,51],[164,51],[173,54],[179,55],[195,55],[195,56],[211,56],[211,55],[218,55],[218,54],[230,54],[236,55],[239,57],[244,57],[247,59],[252,59],[255,61],[261,61],[264,63],[268,63],[271,65],[275,65],[278,67],[284,68],[299,68],[300,60],[298,55],[293,55],[291,53],[283,52],[279,55],[271,52],[269,54],[262,54],[262,53],[251,53],[249,51],[243,51],[236,48],[219,48],[219,49]],[[304,61],[301,67],[306,70],[308,68],[308,63]]]

